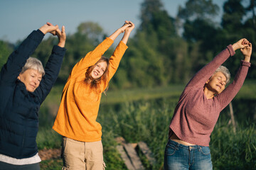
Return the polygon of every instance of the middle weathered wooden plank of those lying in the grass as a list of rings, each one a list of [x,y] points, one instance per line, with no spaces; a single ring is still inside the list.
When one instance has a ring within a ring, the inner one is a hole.
[[[144,166],[142,165],[142,162],[140,161],[136,150],[134,149],[134,147],[132,147],[132,144],[124,144],[124,149],[126,150],[129,158],[131,159],[134,168],[136,170],[144,170]]]

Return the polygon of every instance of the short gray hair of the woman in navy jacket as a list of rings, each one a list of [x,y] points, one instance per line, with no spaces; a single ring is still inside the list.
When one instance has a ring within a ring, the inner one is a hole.
[[[42,74],[42,76],[46,74],[46,72],[43,69],[42,62],[34,57],[28,58],[26,64],[21,69],[21,74],[25,72],[27,69],[36,69],[40,74]]]

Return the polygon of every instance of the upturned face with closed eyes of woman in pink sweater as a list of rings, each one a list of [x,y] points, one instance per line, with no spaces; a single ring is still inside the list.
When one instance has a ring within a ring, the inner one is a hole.
[[[220,94],[227,84],[227,78],[222,72],[216,72],[208,81],[206,81],[206,88],[213,91],[215,94]]]

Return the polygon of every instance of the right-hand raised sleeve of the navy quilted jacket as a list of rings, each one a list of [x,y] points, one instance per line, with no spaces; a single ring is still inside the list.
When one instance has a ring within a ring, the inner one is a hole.
[[[58,45],[53,46],[52,53],[45,67],[46,74],[43,76],[40,85],[34,92],[36,93],[36,96],[38,96],[41,103],[43,103],[43,101],[46,99],[46,96],[50,93],[50,89],[53,87],[53,84],[55,84],[55,81],[58,78],[64,55],[64,47],[59,47]]]

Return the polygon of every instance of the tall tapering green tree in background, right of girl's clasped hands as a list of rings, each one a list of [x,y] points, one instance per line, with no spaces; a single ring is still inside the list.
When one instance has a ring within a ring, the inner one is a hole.
[[[160,86],[174,81],[181,82],[181,79],[175,78],[179,74],[176,74],[174,65],[176,63],[186,67],[186,64],[175,62],[178,61],[178,54],[175,53],[174,47],[178,47],[176,44],[181,38],[178,38],[174,18],[168,15],[160,0],[145,0],[142,3],[140,18],[142,24],[134,36],[134,46],[137,49],[134,49],[133,54],[137,56],[130,60],[131,64],[137,61],[140,64],[144,63],[142,69],[147,73],[144,75],[147,78],[140,85]],[[145,62],[142,62],[143,60]],[[131,65],[130,68],[135,69],[139,66]],[[139,77],[137,82],[139,84]]]

